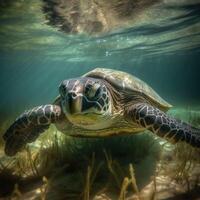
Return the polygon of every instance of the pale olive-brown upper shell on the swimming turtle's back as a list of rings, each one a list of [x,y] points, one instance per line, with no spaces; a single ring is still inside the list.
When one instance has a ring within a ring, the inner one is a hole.
[[[161,110],[167,111],[172,107],[172,105],[162,99],[149,85],[126,72],[106,68],[96,68],[83,76],[104,79],[113,87],[125,90],[129,92],[130,95],[133,92],[141,93]]]

